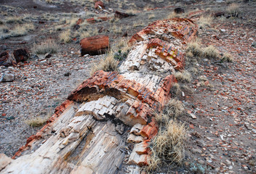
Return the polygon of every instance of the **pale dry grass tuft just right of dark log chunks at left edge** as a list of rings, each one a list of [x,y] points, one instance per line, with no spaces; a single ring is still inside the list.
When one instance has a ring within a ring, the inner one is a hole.
[[[34,54],[54,54],[57,53],[57,48],[57,43],[52,39],[48,39],[39,45],[34,44],[32,50]]]

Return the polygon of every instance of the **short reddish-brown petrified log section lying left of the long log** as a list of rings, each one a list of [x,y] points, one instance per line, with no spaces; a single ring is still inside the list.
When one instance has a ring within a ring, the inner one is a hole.
[[[104,54],[109,47],[108,36],[97,35],[88,38],[83,38],[80,41],[81,56],[85,54],[97,55]]]

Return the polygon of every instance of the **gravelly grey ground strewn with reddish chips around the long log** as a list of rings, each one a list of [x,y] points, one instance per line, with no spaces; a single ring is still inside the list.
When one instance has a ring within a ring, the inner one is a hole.
[[[0,16],[3,19],[23,12],[37,17],[31,17],[36,30],[27,36],[1,40],[0,51],[26,48],[32,52],[33,43],[40,43],[46,38],[57,40],[59,31],[50,30],[57,20],[42,19],[45,12],[55,14],[57,19],[66,13],[81,14],[84,19],[92,17],[87,16],[85,10],[95,16],[97,13],[109,15],[107,12],[95,11],[93,2],[82,5],[79,5],[79,1],[63,4],[31,0],[25,2],[20,4],[15,0],[0,0]],[[131,36],[148,25],[148,22],[166,18],[175,7],[182,6],[185,10],[208,9],[210,15],[225,12],[228,6],[227,1],[198,1],[193,7],[189,3],[192,2],[178,1],[173,4],[169,1],[106,1],[108,12],[111,9],[113,12],[116,9],[125,12],[132,7],[130,9],[136,15],[118,20],[116,25],[124,26],[120,27],[119,32],[110,29],[109,21],[96,22],[88,28],[105,28],[104,34],[108,34],[113,43],[124,33]],[[241,10],[239,17],[215,18],[211,25],[199,30],[199,38],[205,46],[211,44],[222,53],[231,53],[234,60],[227,63],[202,59],[197,67],[199,72],[194,73],[191,83],[188,83],[193,93],[184,91],[185,96],[180,96],[188,112],[179,119],[188,128],[188,153],[185,165],[177,169],[177,173],[256,173],[256,50],[253,46],[256,41],[256,4],[255,1],[237,3]],[[162,8],[172,5],[175,7]],[[160,9],[143,11],[156,7]],[[44,23],[39,24],[39,21]],[[11,27],[13,25],[10,24]],[[44,32],[39,30],[41,28],[44,28]],[[30,127],[25,121],[33,117],[50,117],[55,107],[81,81],[89,78],[92,66],[105,57],[80,57],[77,41],[57,43],[60,46],[58,53],[50,58],[39,55],[39,59],[29,59],[16,67],[0,67],[1,75],[4,72],[15,75],[14,81],[0,83],[0,153],[12,157],[25,144],[26,139],[39,130]],[[196,118],[192,118],[191,113]]]

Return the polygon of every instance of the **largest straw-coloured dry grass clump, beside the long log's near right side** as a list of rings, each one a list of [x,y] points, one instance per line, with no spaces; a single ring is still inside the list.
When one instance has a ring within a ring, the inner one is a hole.
[[[164,165],[180,165],[185,157],[185,125],[176,118],[183,114],[184,107],[181,101],[172,99],[164,107],[161,114],[156,114],[159,124],[159,133],[150,144],[151,155],[148,159],[148,172],[158,170]]]

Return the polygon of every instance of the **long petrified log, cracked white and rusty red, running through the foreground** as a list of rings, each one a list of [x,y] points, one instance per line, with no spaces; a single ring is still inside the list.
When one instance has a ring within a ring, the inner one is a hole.
[[[196,29],[174,18],[136,33],[119,72],[99,70],[84,80],[0,173],[140,173],[158,132],[153,113],[169,100]]]

